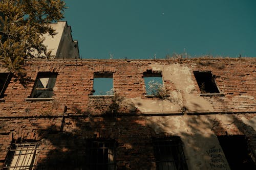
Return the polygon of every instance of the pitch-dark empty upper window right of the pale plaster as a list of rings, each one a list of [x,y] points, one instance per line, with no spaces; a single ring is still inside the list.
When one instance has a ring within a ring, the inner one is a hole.
[[[194,71],[201,93],[220,93],[211,71]]]

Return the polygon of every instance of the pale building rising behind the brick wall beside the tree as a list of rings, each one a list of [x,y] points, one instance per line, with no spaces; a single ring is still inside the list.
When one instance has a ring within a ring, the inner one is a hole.
[[[51,27],[56,30],[53,37],[45,34],[44,44],[48,46],[48,52],[51,51],[53,58],[79,58],[78,42],[74,41],[71,35],[71,26],[67,21],[58,21],[51,23]]]

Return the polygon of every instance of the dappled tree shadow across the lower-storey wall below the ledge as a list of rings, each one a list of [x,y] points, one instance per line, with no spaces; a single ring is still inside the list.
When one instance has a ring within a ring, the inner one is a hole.
[[[78,113],[82,111],[78,110]],[[152,137],[166,136],[181,137],[191,169],[226,169],[228,163],[216,135],[255,138],[256,134],[233,114],[141,116],[121,112],[113,115],[89,113],[65,115],[61,126],[53,124],[40,130],[41,155],[45,156],[40,158],[37,169],[88,169],[88,139],[115,139],[118,169],[155,169]],[[226,116],[228,119],[224,120]],[[211,152],[215,151],[218,151],[219,162],[211,158]],[[251,152],[255,162],[254,156]]]

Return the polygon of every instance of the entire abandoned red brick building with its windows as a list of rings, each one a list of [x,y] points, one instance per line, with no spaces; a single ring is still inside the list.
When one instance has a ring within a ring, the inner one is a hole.
[[[255,63],[27,60],[27,84],[1,69],[0,168],[255,169]]]

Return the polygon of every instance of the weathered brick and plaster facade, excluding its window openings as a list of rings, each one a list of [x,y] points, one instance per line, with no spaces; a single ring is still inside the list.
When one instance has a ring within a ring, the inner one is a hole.
[[[11,143],[40,142],[36,169],[87,169],[87,142],[113,139],[116,169],[156,169],[152,138],[180,136],[188,169],[229,169],[219,135],[244,135],[255,163],[256,59],[30,60],[26,87],[11,79],[0,101],[0,167]],[[147,70],[170,100],[148,98]],[[193,71],[220,93],[201,94]],[[38,72],[56,72],[53,99],[30,99]],[[114,96],[93,96],[94,74],[113,73]],[[220,162],[209,151],[220,150]]]

